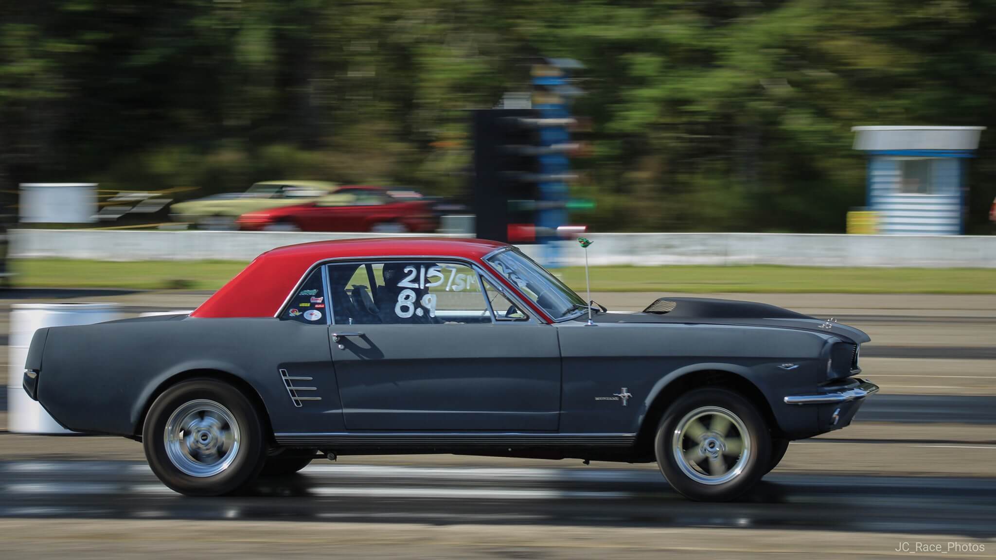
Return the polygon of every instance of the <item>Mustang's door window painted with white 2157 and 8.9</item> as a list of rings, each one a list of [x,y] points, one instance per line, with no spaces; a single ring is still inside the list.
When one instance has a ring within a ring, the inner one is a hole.
[[[329,299],[337,325],[490,324],[477,272],[444,261],[332,264]]]

